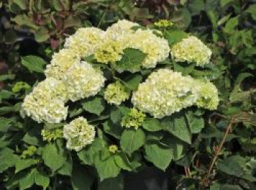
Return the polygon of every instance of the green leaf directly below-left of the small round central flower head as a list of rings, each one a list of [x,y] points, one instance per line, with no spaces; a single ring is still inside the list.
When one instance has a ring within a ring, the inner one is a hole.
[[[86,111],[99,116],[105,109],[105,101],[99,97],[90,98],[89,100],[83,101],[82,106]]]

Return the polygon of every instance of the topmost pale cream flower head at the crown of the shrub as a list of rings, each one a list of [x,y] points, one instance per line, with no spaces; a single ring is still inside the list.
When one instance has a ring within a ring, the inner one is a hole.
[[[108,39],[116,40],[127,36],[128,33],[132,33],[132,27],[137,26],[138,23],[132,23],[129,20],[118,20],[117,23],[108,27],[106,36]]]

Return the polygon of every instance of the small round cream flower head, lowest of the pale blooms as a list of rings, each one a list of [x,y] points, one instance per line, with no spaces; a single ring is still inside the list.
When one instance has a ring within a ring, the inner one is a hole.
[[[67,149],[80,151],[94,141],[94,126],[80,116],[69,124],[64,125],[63,137],[67,140]]]

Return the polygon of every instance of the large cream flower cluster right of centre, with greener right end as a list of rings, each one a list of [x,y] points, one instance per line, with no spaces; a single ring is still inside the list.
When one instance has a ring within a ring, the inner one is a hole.
[[[192,105],[205,108],[211,102],[211,109],[217,108],[218,94],[214,84],[199,82],[191,76],[170,69],[159,69],[139,84],[138,90],[132,95],[132,103],[141,111],[156,118],[170,116]],[[215,90],[213,90],[215,87]],[[206,93],[213,90],[211,96]],[[202,103],[203,102],[203,103]],[[206,103],[207,102],[207,103]],[[207,104],[208,105],[208,104]]]

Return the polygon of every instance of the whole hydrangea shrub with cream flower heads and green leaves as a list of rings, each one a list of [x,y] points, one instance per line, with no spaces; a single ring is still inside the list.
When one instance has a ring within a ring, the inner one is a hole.
[[[63,151],[95,167],[101,181],[136,171],[143,160],[165,170],[204,126],[202,118],[192,124],[189,117],[219,104],[211,77],[184,72],[214,67],[211,50],[183,31],[166,36],[172,31],[179,32],[163,21],[79,28],[26,95],[22,116],[44,123],[42,140],[65,143]],[[176,68],[184,64],[184,71]]]

